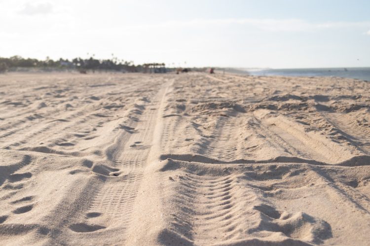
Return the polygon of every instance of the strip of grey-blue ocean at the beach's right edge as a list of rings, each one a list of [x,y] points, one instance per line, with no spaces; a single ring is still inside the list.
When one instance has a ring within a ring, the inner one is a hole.
[[[238,70],[238,71],[236,71]],[[327,69],[236,69],[235,72],[251,75],[279,76],[334,76],[357,78],[370,81],[370,68],[327,68]]]

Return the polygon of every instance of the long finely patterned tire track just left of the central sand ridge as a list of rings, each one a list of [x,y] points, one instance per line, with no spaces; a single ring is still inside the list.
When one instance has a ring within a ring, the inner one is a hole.
[[[152,122],[158,117],[165,85],[154,97],[133,110],[135,117],[130,119],[134,120],[123,128],[109,148],[108,157],[111,158],[114,168],[108,168],[111,172],[105,173],[99,191],[85,211],[85,218],[69,227],[70,233],[74,233],[78,240],[83,240],[81,242],[90,242],[94,237],[110,233],[120,235],[120,242],[114,243],[124,242],[148,164],[155,128]]]

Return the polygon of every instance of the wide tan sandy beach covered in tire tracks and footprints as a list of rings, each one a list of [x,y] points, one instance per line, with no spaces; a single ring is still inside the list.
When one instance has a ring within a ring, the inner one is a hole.
[[[1,245],[370,245],[370,83],[0,75]]]

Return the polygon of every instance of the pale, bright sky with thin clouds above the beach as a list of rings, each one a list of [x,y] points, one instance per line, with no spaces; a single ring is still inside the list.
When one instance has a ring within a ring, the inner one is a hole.
[[[370,0],[0,0],[0,57],[370,67]]]

